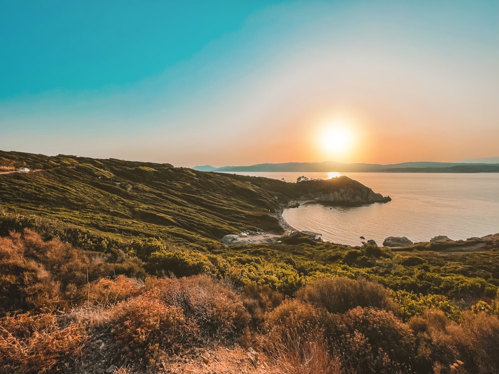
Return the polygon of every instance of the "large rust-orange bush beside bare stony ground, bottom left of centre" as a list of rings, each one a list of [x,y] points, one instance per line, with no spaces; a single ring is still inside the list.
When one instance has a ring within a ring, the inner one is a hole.
[[[160,349],[178,353],[199,336],[196,323],[186,320],[181,308],[147,294],[112,307],[110,323],[121,352],[139,365],[152,365]]]

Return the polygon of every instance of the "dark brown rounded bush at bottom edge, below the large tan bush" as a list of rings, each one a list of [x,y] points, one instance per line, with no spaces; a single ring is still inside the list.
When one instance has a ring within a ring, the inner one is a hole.
[[[328,315],[326,338],[348,372],[411,373],[415,339],[392,312],[357,307]]]

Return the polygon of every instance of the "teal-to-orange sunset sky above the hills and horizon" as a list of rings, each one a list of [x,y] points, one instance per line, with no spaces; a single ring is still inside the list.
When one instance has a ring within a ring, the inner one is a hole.
[[[0,150],[499,156],[499,1],[0,0]]]

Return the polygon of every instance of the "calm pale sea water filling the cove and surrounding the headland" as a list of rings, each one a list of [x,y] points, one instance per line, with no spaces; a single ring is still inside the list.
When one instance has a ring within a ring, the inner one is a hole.
[[[299,176],[327,179],[328,173],[236,173],[294,182]],[[331,174],[330,174],[331,175]],[[284,219],[323,239],[360,245],[359,236],[381,244],[387,236],[428,241],[436,235],[467,239],[499,232],[499,173],[341,173],[390,195],[392,201],[358,207],[304,204]]]

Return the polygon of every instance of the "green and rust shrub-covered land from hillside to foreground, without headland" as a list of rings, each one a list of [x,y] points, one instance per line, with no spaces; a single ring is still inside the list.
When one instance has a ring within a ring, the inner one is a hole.
[[[302,192],[2,155],[44,171],[0,176],[0,373],[498,373],[498,235],[466,252],[300,234],[224,247]]]

